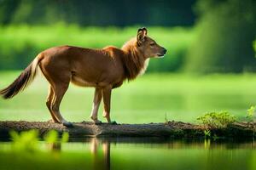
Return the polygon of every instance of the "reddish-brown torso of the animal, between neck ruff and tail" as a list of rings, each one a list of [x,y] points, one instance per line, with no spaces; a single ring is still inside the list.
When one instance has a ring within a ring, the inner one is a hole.
[[[108,83],[122,82],[124,68],[118,48],[103,49],[61,46],[42,52],[40,63],[43,72],[61,77],[71,74],[72,82],[79,86],[105,86]],[[45,75],[45,74],[44,74]]]

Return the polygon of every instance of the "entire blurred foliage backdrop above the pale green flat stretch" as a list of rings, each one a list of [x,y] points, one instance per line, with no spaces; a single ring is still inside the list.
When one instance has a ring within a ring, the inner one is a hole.
[[[24,69],[59,45],[120,48],[138,27],[149,26],[148,35],[168,50],[166,58],[151,59],[149,72],[256,71],[255,8],[255,0],[3,0],[0,70]]]

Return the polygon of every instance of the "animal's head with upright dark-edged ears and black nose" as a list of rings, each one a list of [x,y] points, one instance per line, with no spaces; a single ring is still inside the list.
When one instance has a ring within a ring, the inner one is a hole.
[[[166,54],[166,48],[161,47],[151,37],[147,36],[147,29],[145,27],[137,31],[137,48],[147,58],[162,58]]]

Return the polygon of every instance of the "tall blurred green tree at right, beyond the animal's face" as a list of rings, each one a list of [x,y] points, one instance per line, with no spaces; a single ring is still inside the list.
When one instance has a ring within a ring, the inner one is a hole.
[[[198,34],[189,48],[187,71],[255,71],[255,8],[253,0],[197,1]]]

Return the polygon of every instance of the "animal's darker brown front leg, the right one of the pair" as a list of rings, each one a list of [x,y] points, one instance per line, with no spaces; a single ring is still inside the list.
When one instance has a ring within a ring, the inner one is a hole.
[[[112,90],[112,86],[108,86],[102,89],[103,103],[104,103],[103,116],[106,117],[108,123],[111,123],[111,119],[110,119],[111,90]]]

